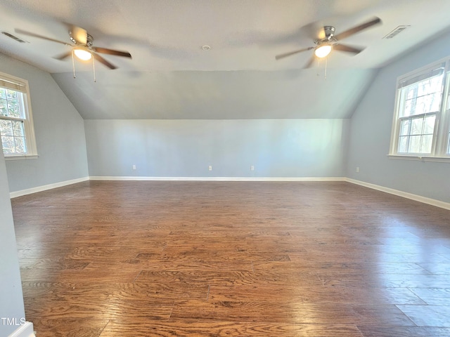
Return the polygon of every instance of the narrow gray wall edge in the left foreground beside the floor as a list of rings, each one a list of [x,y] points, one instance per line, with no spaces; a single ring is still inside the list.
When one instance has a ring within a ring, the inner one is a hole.
[[[20,323],[25,317],[25,308],[3,151],[0,153],[0,218],[0,318]],[[17,328],[0,320],[0,336],[8,336]]]

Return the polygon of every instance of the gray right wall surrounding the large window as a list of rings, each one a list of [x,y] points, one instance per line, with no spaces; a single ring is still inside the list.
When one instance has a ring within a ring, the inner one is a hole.
[[[375,77],[351,120],[347,177],[423,197],[450,202],[450,162],[390,159],[397,77],[450,55],[443,34],[384,67]],[[356,173],[356,166],[360,172]]]

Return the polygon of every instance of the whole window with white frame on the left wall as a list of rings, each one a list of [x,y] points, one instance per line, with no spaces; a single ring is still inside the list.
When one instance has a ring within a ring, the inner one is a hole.
[[[37,155],[28,82],[1,72],[0,136],[6,158]]]

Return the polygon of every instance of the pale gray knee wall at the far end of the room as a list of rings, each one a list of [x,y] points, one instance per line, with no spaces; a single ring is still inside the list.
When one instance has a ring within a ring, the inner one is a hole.
[[[348,119],[85,120],[84,126],[90,176],[345,174]]]

